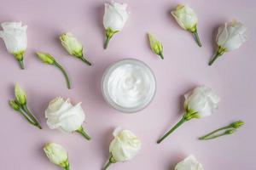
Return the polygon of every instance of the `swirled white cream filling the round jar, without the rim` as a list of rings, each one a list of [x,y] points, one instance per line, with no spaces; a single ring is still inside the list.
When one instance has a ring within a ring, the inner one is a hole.
[[[144,65],[124,64],[108,79],[108,94],[116,105],[125,108],[145,105],[154,95],[154,76]]]

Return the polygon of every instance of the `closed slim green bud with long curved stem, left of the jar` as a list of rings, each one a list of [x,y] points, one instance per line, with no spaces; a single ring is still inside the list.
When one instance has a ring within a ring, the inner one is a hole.
[[[67,71],[65,71],[65,69],[62,67],[62,65],[60,65],[51,54],[46,54],[46,53],[42,53],[42,52],[37,52],[36,54],[38,55],[38,59],[42,60],[45,64],[55,65],[55,67],[57,67],[62,72],[62,74],[64,75],[65,80],[67,82],[67,88],[70,89],[71,84],[69,81],[69,77],[67,75]]]

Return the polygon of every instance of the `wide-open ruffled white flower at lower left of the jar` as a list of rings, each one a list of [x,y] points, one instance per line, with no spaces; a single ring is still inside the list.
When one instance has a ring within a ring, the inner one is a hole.
[[[50,129],[57,128],[67,133],[78,132],[85,139],[90,139],[82,127],[85,114],[81,103],[72,105],[69,99],[57,97],[49,102],[49,106],[45,111],[45,117]]]

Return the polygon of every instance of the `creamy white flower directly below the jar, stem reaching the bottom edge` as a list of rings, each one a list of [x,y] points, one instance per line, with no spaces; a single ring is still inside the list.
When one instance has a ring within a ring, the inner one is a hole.
[[[108,164],[103,168],[107,169],[112,163],[129,161],[137,155],[141,149],[141,141],[130,130],[123,130],[117,127],[113,131],[111,144],[109,145],[110,158]]]

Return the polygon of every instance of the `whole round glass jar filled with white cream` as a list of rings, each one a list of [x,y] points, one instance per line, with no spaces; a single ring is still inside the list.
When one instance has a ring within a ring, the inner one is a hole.
[[[136,112],[146,107],[154,97],[153,72],[142,61],[123,59],[111,65],[102,79],[102,93],[113,108]]]

